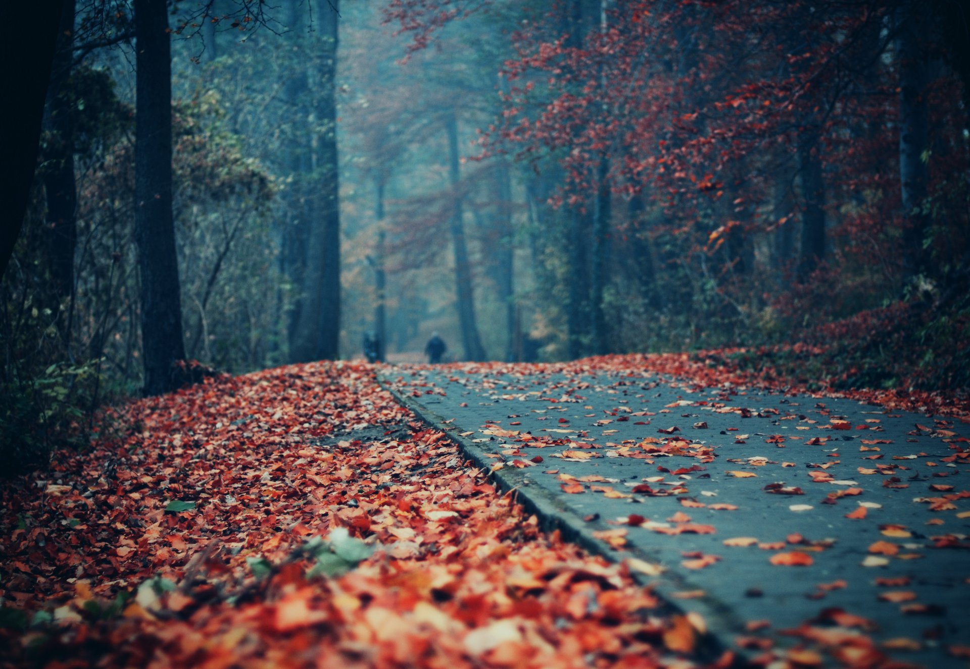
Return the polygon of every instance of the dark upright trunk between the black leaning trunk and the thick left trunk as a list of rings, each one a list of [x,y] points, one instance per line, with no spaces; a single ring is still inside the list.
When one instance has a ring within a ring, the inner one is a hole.
[[[74,0],[64,3],[57,54],[54,57],[48,89],[48,112],[45,123],[49,142],[44,151],[47,163],[44,191],[47,198],[47,248],[50,274],[57,299],[74,294],[74,250],[78,240],[78,192],[74,175],[74,113],[69,88],[74,44]],[[70,325],[63,323],[67,340]]]

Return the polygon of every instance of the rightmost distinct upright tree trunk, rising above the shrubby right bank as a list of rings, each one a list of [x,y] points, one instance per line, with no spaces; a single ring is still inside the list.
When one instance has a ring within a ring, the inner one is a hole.
[[[922,241],[929,224],[921,211],[926,198],[927,169],[923,155],[929,148],[926,85],[928,63],[920,35],[928,26],[910,0],[896,10],[896,56],[899,59],[899,183],[902,191],[903,278],[907,282],[925,270]]]

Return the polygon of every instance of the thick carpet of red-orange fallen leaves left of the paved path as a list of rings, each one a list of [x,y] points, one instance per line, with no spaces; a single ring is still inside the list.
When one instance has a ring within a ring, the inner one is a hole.
[[[364,364],[210,378],[56,455],[0,489],[0,666],[695,665],[702,621],[540,532]]]

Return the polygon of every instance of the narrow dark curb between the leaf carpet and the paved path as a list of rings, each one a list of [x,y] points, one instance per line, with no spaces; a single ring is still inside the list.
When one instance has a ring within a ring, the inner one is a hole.
[[[657,555],[648,547],[634,545],[631,542],[625,546],[623,552],[612,548],[609,544],[593,536],[593,532],[614,530],[600,520],[584,521],[566,505],[550,495],[547,491],[533,485],[527,470],[502,468],[492,470],[493,461],[485,456],[487,450],[482,446],[463,438],[457,426],[445,422],[445,418],[435,411],[423,406],[416,398],[404,395],[394,387],[394,376],[390,369],[377,370],[376,377],[381,387],[394,395],[395,399],[406,409],[412,411],[429,426],[443,432],[447,438],[458,446],[462,454],[467,457],[476,468],[485,471],[489,479],[504,494],[511,493],[515,501],[539,520],[539,526],[545,532],[558,530],[566,541],[574,543],[594,555],[601,556],[611,563],[621,563],[626,558],[638,558],[648,563],[658,563]],[[667,613],[694,612],[699,614],[707,626],[707,632],[698,637],[695,649],[697,658],[701,661],[713,661],[731,648],[731,639],[746,633],[745,621],[733,609],[720,599],[703,595],[674,603],[673,593],[691,591],[697,588],[692,585],[688,575],[680,573],[674,568],[667,567],[659,577],[651,578],[645,574],[630,569],[634,580],[644,587],[650,588],[663,600],[663,608]],[[746,667],[750,656],[744,651],[734,651],[736,660],[732,666]]]

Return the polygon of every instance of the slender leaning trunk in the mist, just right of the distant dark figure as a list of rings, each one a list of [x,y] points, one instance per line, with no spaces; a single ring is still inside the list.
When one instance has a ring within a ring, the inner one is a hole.
[[[461,175],[458,167],[458,117],[454,111],[445,120],[448,134],[448,172],[451,178],[452,197],[455,198],[451,214],[451,243],[455,253],[455,283],[458,292],[458,320],[462,328],[462,347],[466,360],[484,360],[485,349],[478,335],[475,322],[474,293],[471,287],[471,266],[469,250],[465,241],[465,227],[462,224],[462,198],[459,193]]]

